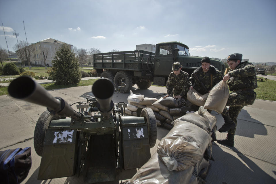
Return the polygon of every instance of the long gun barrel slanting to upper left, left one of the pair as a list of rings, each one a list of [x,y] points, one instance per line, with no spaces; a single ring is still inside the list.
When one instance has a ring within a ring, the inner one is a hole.
[[[66,101],[59,97],[53,97],[29,76],[20,76],[14,79],[8,87],[8,92],[14,98],[45,106],[50,112],[74,119],[81,118],[81,114],[73,110]]]

